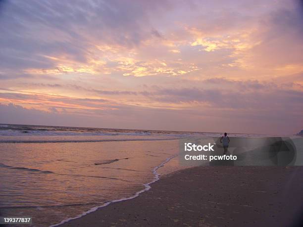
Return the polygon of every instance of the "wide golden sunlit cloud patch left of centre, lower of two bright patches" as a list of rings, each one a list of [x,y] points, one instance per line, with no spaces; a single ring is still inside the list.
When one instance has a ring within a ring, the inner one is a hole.
[[[110,46],[97,47],[102,53],[94,54],[94,56],[87,56],[88,62],[85,65],[79,65],[77,62],[66,62],[60,60],[59,57],[46,56],[47,58],[54,60],[57,64],[54,68],[50,69],[25,69],[24,72],[28,74],[49,74],[49,75],[62,75],[67,73],[87,73],[87,74],[111,74],[113,72],[122,73],[123,76],[153,76],[153,75],[168,75],[177,76],[192,71],[200,70],[194,63],[181,62],[179,67],[170,67],[173,62],[167,62],[158,59],[148,59],[142,61],[138,59],[135,52],[128,53],[128,56],[119,53],[117,48],[110,48]],[[110,54],[103,53],[108,51]],[[170,51],[170,50],[169,50]],[[62,64],[61,62],[64,62]],[[108,66],[107,63],[111,63],[112,66]]]

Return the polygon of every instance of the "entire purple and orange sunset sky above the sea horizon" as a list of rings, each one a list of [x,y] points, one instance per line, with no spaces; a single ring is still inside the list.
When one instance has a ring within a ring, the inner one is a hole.
[[[0,123],[294,134],[299,0],[0,0]]]

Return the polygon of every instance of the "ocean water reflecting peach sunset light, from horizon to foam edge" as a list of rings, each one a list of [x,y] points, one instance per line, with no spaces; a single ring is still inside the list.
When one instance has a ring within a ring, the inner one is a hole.
[[[134,198],[185,168],[178,139],[195,136],[221,133],[0,124],[0,216],[51,226]]]

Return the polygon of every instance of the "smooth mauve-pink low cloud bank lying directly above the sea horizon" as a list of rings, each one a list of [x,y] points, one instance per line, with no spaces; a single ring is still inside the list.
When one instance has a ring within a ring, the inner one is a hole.
[[[180,130],[237,133],[293,134],[299,131],[300,116],[285,112],[251,112],[202,108],[169,110],[128,106],[114,110],[95,110],[95,114],[41,111],[0,103],[0,122],[13,124],[60,125],[100,128]],[[249,119],[249,120],[248,120]],[[182,122],[182,124],[180,124]],[[278,122],[278,123],[277,123]],[[262,125],[262,127],[260,127]]]

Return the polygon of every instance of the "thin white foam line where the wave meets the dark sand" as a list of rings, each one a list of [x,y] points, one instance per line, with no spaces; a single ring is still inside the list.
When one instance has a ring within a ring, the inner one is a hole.
[[[142,189],[141,191],[137,191],[134,195],[132,195],[132,196],[130,196],[130,197],[127,197],[127,198],[115,199],[115,200],[112,200],[112,201],[105,202],[105,203],[104,203],[103,205],[101,205],[101,206],[93,207],[92,209],[90,209],[90,210],[88,210],[88,211],[86,211],[86,212],[84,212],[84,213],[82,213],[82,214],[80,214],[80,215],[78,215],[78,216],[76,216],[76,217],[74,217],[74,218],[65,219],[65,220],[61,221],[60,223],[51,225],[50,227],[57,227],[57,226],[60,226],[60,225],[62,225],[62,224],[64,224],[64,223],[67,223],[67,222],[69,222],[69,221],[71,221],[71,220],[79,219],[79,218],[81,218],[81,217],[83,217],[83,216],[85,216],[85,215],[87,215],[87,214],[90,214],[90,213],[92,213],[92,212],[97,211],[99,208],[106,207],[106,206],[108,206],[109,204],[118,203],[118,202],[122,202],[122,201],[126,201],[126,200],[131,200],[131,199],[134,199],[134,198],[138,197],[141,193],[150,190],[150,189],[152,188],[152,187],[151,187],[151,184],[154,183],[154,182],[157,182],[157,181],[160,179],[160,174],[157,173],[157,170],[158,170],[159,168],[161,168],[162,166],[164,166],[165,163],[169,162],[171,159],[173,159],[173,158],[176,157],[176,156],[178,156],[178,154],[175,154],[175,155],[173,155],[173,156],[167,158],[167,159],[166,159],[164,162],[162,162],[160,165],[154,167],[153,170],[152,170],[152,174],[154,175],[154,179],[153,179],[151,182],[149,182],[149,183],[144,183],[145,188]]]

